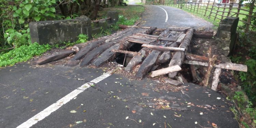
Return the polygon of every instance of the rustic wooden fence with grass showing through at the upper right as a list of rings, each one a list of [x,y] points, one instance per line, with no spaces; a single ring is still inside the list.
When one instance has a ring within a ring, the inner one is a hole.
[[[231,0],[232,1],[232,0]],[[228,16],[239,17],[238,27],[244,32],[256,31],[256,25],[251,23],[252,18],[256,18],[254,12],[255,3],[218,3],[218,0],[146,0],[146,5],[168,5],[186,9],[190,12],[206,16],[216,22],[220,22]],[[245,21],[243,18],[248,17]]]

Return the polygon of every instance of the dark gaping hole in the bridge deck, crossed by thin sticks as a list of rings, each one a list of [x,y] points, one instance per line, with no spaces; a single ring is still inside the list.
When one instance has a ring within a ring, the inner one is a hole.
[[[129,49],[127,49],[127,51],[131,51],[131,52],[139,52],[142,47],[142,44],[139,43],[135,43],[134,45],[132,45]],[[123,53],[118,53],[118,55],[116,56],[116,62],[120,65],[124,65],[124,67],[127,66],[127,64],[129,63],[129,61],[132,59],[132,55],[128,55],[123,54]],[[125,61],[124,61],[125,60]]]

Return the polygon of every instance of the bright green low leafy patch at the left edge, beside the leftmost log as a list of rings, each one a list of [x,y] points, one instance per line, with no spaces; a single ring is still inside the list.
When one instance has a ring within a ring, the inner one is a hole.
[[[18,62],[27,61],[33,56],[39,56],[50,49],[52,49],[52,46],[50,46],[49,44],[39,45],[38,43],[33,43],[30,45],[20,46],[9,51],[8,53],[0,54],[0,67],[14,65]]]

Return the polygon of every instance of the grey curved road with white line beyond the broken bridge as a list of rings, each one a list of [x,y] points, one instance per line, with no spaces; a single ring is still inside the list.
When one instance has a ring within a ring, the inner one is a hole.
[[[142,27],[212,27],[213,24],[181,9],[162,5],[146,5],[142,16]]]

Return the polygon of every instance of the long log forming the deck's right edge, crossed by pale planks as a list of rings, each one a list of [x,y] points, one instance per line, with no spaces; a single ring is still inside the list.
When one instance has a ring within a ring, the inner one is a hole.
[[[179,46],[180,48],[185,48],[185,51],[187,51],[190,41],[193,37],[193,33],[194,33],[194,29],[190,28],[187,30],[186,36]],[[179,65],[181,67],[184,57],[185,57],[185,52],[177,51],[173,55],[173,57],[169,63],[169,67],[174,66],[174,65]],[[174,78],[177,75],[177,73],[178,72],[171,72],[168,74],[168,76],[169,76],[169,78]]]

